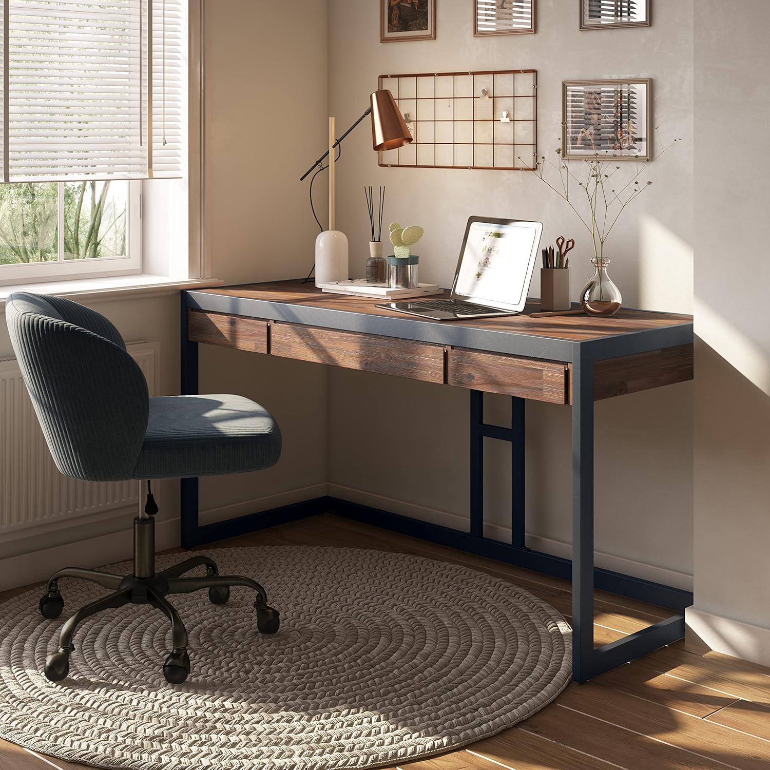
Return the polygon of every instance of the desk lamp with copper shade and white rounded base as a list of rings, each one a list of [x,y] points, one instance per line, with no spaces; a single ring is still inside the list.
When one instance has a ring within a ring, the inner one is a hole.
[[[372,116],[372,149],[375,152],[397,149],[412,141],[412,135],[403,122],[401,112],[393,94],[387,89],[375,91],[370,96],[370,106],[360,118],[350,126],[340,139],[334,138],[334,119],[329,119],[329,149],[310,169],[300,177],[300,182],[313,171],[323,171],[323,161],[329,158],[329,229],[323,230],[316,238],[316,286],[332,281],[345,281],[348,278],[347,238],[345,233],[334,229],[334,153],[343,139],[367,116]],[[313,180],[310,180],[310,205],[313,205]]]

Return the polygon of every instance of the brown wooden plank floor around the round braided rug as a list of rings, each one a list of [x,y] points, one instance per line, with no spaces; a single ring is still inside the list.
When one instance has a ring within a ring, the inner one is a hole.
[[[472,565],[548,601],[569,619],[570,585],[410,537],[325,516],[258,532],[228,545],[377,547]],[[215,550],[207,547],[206,551]],[[25,590],[25,589],[22,589]],[[0,594],[0,600],[18,591]],[[597,644],[664,618],[648,604],[596,594]],[[75,770],[0,741],[2,770]],[[571,684],[554,703],[494,738],[410,770],[606,770],[606,768],[770,768],[770,669],[708,652],[664,648],[589,682]],[[255,768],[256,770],[256,768]]]

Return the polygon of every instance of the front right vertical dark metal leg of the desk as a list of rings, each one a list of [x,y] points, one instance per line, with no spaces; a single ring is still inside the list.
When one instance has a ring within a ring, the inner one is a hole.
[[[581,350],[572,386],[572,677],[594,653],[594,362]]]

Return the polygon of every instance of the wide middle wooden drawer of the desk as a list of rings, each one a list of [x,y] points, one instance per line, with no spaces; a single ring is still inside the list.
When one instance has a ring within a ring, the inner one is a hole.
[[[292,323],[273,323],[270,353],[334,367],[444,382],[444,347]]]

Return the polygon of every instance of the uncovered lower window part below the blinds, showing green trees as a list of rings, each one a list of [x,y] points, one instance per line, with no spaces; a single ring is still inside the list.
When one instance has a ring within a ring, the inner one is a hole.
[[[0,283],[141,266],[141,182],[0,185]]]

